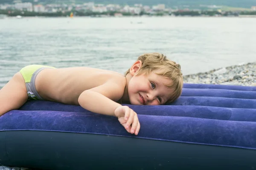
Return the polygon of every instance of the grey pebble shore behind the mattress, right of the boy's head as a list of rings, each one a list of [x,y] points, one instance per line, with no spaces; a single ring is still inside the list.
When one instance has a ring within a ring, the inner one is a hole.
[[[184,83],[256,86],[256,62],[183,77]]]

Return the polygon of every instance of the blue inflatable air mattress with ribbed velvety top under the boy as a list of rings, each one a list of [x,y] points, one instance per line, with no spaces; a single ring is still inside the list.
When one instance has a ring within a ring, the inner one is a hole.
[[[0,164],[51,170],[256,168],[256,87],[184,84],[161,106],[129,105],[141,129],[80,106],[28,101],[0,117]]]

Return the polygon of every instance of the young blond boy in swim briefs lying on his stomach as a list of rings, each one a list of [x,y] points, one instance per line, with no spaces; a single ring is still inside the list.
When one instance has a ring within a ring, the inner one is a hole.
[[[138,57],[125,76],[97,68],[28,65],[0,90],[0,116],[28,99],[48,100],[116,116],[129,133],[137,135],[137,113],[121,104],[163,105],[177,99],[182,86],[180,65],[159,53]]]

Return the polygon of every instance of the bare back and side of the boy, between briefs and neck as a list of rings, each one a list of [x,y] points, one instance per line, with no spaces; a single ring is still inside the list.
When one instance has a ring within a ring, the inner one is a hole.
[[[109,79],[126,84],[122,74],[97,68],[75,67],[42,70],[35,79],[35,87],[45,100],[79,105],[78,98],[83,91],[102,85]]]

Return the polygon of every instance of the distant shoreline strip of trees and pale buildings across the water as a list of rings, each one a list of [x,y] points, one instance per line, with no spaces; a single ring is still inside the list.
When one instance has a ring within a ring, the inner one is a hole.
[[[158,11],[148,13],[141,11],[140,13],[120,12],[120,11],[57,11],[57,12],[35,12],[35,11],[19,11],[19,10],[0,10],[0,17],[256,17],[256,11]]]

